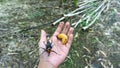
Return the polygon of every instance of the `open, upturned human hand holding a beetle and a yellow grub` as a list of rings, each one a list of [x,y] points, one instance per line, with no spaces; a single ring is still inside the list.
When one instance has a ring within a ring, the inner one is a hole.
[[[46,48],[46,45],[44,42],[47,42],[47,40],[46,40],[46,32],[44,30],[41,30],[41,38],[39,41],[40,63],[39,63],[38,68],[39,67],[47,68],[46,66],[47,64],[52,66],[51,68],[57,68],[65,60],[69,52],[72,39],[73,39],[73,34],[72,34],[73,30],[74,29],[70,27],[69,22],[67,22],[66,24],[64,24],[64,22],[61,22],[58,25],[53,36],[50,38],[50,41],[52,42],[52,46],[53,46],[52,50],[55,51],[57,54],[55,52],[50,52],[49,56],[48,56],[48,53],[44,52],[44,49],[42,49],[42,48]],[[68,42],[65,45],[63,45],[62,42],[57,39],[57,35],[60,33],[64,33],[68,36]]]

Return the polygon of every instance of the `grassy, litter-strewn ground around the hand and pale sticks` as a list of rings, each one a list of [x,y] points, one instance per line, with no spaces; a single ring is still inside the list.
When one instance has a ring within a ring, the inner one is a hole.
[[[120,67],[120,1],[111,5],[94,26],[75,29],[70,53],[60,68]],[[0,67],[37,68],[40,30],[50,37],[57,27],[51,23],[74,9],[72,2],[60,0],[0,0]]]

